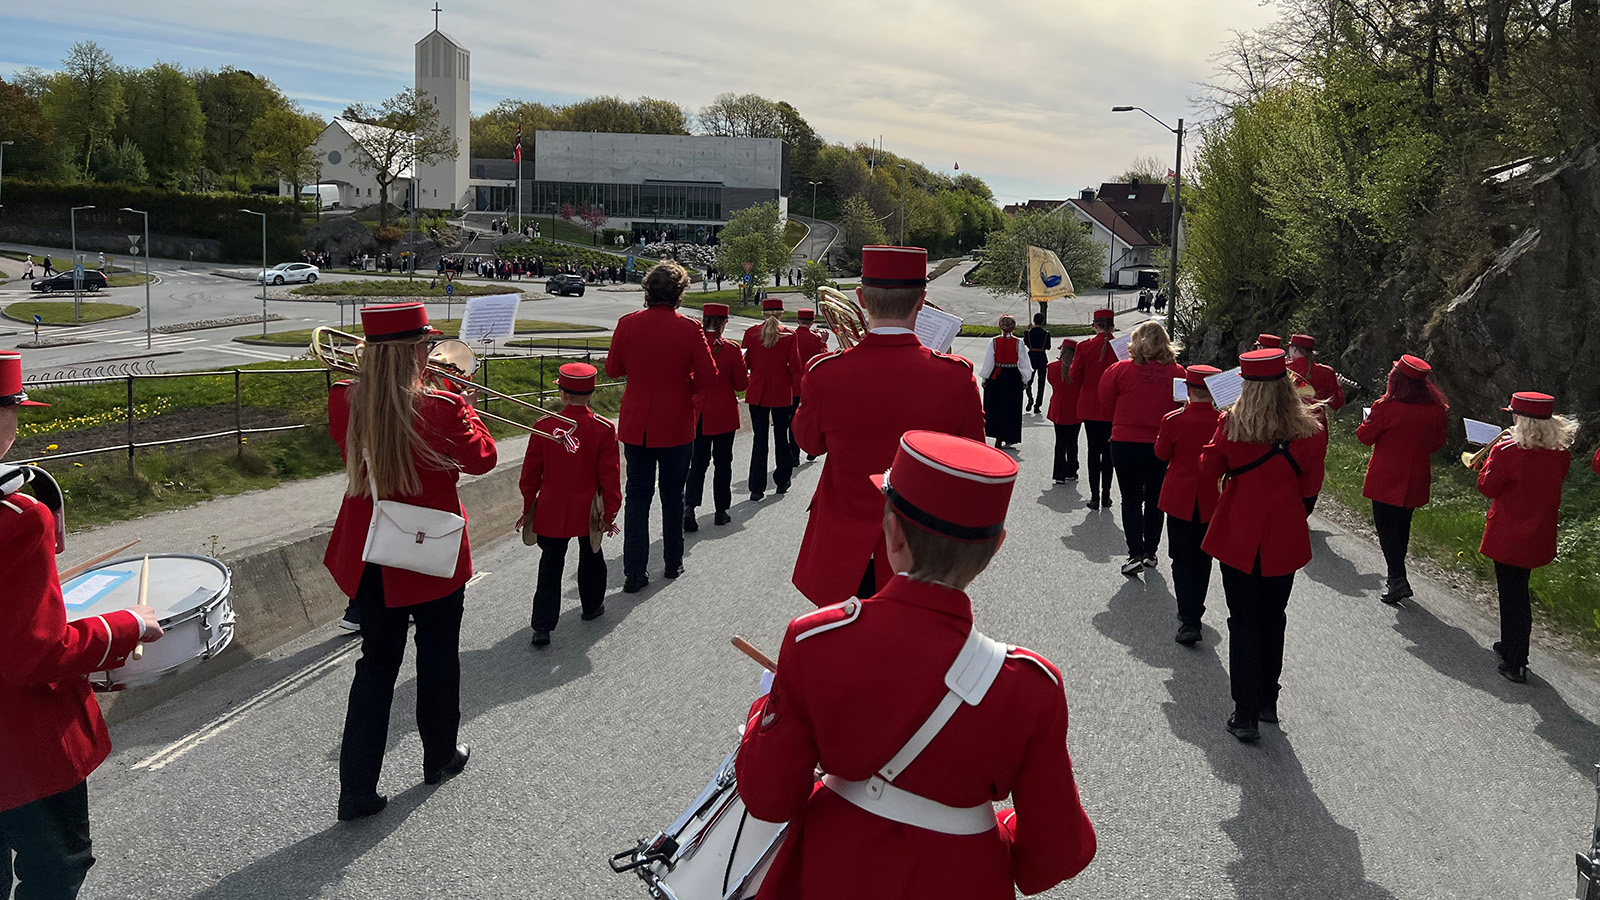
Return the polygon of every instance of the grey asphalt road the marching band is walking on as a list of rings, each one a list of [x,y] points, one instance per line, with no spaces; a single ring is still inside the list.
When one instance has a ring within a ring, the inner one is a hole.
[[[1282,727],[1246,746],[1229,713],[1219,581],[1205,641],[1173,644],[1168,569],[1125,578],[1115,508],[1050,484],[1050,426],[1029,416],[1000,557],[973,588],[979,626],[1066,674],[1069,741],[1099,855],[1048,897],[1387,900],[1570,897],[1594,815],[1600,684],[1534,653],[1512,685],[1494,623],[1418,580],[1376,601],[1379,556],[1314,519],[1315,560],[1290,605]],[[746,460],[749,439],[738,442]],[[734,522],[702,517],[688,573],[619,593],[605,618],[568,581],[547,650],[528,647],[536,552],[475,554],[462,631],[470,767],[421,785],[402,676],[382,790],[390,807],[334,822],[336,753],[355,642],[331,629],[117,727],[91,778],[99,865],[83,897],[643,898],[610,854],[666,826],[734,745],[758,669],[810,609],[789,585],[822,461]],[[331,519],[328,498],[325,516]],[[866,690],[870,685],[864,685]]]

